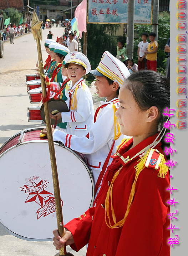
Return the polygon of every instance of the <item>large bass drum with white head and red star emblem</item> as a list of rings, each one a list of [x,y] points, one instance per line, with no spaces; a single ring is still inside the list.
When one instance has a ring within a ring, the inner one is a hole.
[[[51,162],[41,129],[27,129],[0,148],[0,221],[16,237],[52,240],[57,227]],[[74,151],[54,143],[63,221],[81,216],[94,198],[92,173]]]

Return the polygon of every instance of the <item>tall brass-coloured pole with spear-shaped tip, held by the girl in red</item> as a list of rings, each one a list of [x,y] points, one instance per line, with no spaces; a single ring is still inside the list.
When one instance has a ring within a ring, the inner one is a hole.
[[[45,83],[45,76],[44,76],[44,67],[42,62],[41,44],[40,44],[40,40],[42,40],[42,21],[39,20],[35,10],[33,12],[33,17],[32,17],[31,31],[37,43],[39,70],[40,70],[41,86],[42,86],[42,96],[43,98],[45,98],[46,83]],[[54,184],[57,228],[60,236],[63,237],[65,235],[65,231],[64,231],[64,225],[63,225],[63,214],[62,214],[62,207],[61,207],[59,179],[58,179],[57,165],[56,165],[56,158],[55,158],[54,141],[53,141],[52,129],[51,129],[50,111],[49,111],[49,106],[47,101],[44,102],[44,112],[45,112],[47,136],[48,136],[49,151],[50,151],[52,178],[53,178],[53,184]],[[72,253],[66,252],[66,246],[63,246],[62,248],[60,248],[59,256],[64,256],[64,255],[72,255]]]

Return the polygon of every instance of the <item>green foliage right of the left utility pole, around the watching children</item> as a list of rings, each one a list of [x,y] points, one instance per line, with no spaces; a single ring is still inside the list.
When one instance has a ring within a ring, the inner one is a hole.
[[[166,54],[164,53],[164,46],[166,45],[168,38],[170,37],[170,15],[167,12],[160,13],[158,24],[157,42],[159,44],[159,48],[157,51],[157,70],[164,74],[166,70]],[[143,32],[146,32],[148,34],[152,32],[152,25],[134,25],[134,33],[140,36],[140,38],[134,39],[134,61],[136,63],[136,56],[138,50],[137,45],[141,41],[141,34]]]

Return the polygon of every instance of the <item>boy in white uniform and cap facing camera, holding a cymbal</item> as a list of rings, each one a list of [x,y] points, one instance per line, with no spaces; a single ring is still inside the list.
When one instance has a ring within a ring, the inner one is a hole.
[[[71,52],[65,57],[65,67],[71,79],[65,88],[66,104],[69,112],[50,115],[52,119],[67,122],[67,133],[78,137],[86,136],[93,125],[94,107],[91,92],[82,76],[89,73],[91,65],[88,58],[80,52]]]

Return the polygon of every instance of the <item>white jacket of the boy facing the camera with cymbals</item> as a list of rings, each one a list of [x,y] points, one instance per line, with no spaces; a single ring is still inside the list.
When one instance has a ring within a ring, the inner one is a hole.
[[[81,78],[72,86],[68,82],[65,89],[69,112],[62,112],[62,122],[67,122],[67,133],[78,137],[86,136],[93,125],[94,107],[91,92]],[[74,99],[73,106],[71,99]],[[73,108],[73,109],[72,109]]]

